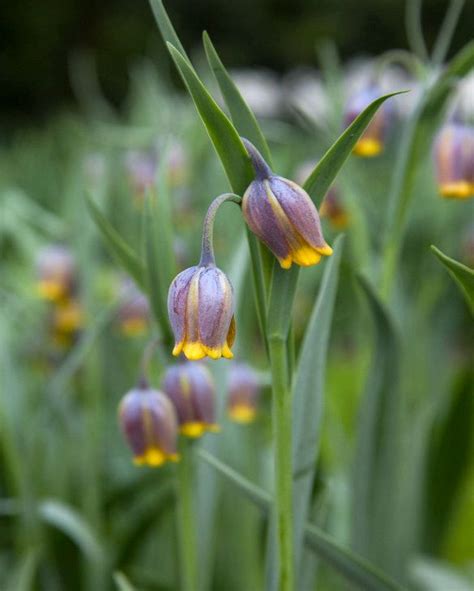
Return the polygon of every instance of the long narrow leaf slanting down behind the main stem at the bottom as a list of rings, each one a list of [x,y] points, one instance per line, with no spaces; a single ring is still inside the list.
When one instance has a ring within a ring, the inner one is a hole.
[[[269,493],[250,482],[212,454],[200,450],[199,457],[234,484],[257,507],[260,507],[266,513],[270,512],[273,501]],[[308,523],[305,524],[305,543],[340,575],[361,589],[368,591],[401,591],[401,587],[395,581],[381,573],[368,561],[340,546],[331,536]]]

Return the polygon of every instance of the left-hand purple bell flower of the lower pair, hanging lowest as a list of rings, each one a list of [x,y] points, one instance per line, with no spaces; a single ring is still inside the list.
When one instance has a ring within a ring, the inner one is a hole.
[[[145,380],[124,396],[119,419],[135,464],[157,467],[179,459],[178,423],[173,405]]]

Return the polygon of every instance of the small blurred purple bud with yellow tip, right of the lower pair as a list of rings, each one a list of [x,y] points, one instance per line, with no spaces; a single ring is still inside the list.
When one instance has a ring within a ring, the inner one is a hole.
[[[231,367],[227,412],[236,423],[251,423],[257,415],[260,384],[255,371],[245,363]]]

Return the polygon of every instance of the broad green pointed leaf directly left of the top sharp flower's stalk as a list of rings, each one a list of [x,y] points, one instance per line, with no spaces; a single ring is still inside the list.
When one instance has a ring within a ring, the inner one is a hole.
[[[242,195],[253,180],[253,172],[250,158],[239,134],[199,80],[189,62],[170,43],[168,49],[221,159],[232,190]]]

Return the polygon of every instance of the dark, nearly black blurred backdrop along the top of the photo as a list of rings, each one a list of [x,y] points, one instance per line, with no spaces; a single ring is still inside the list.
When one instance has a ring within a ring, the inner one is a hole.
[[[403,0],[173,0],[165,3],[184,46],[207,29],[229,67],[285,71],[315,63],[315,44],[331,38],[344,59],[406,47]],[[431,47],[446,0],[427,0],[423,27]],[[466,2],[451,54],[472,36],[474,2]],[[3,2],[0,8],[1,117],[8,127],[42,119],[73,101],[68,60],[90,51],[106,96],[120,103],[127,71],[142,55],[169,68],[151,9],[138,0]]]

